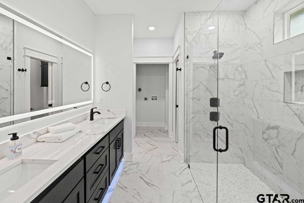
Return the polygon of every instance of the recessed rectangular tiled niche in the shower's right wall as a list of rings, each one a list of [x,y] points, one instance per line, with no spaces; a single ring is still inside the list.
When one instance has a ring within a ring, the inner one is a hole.
[[[284,72],[284,102],[304,104],[304,70]]]

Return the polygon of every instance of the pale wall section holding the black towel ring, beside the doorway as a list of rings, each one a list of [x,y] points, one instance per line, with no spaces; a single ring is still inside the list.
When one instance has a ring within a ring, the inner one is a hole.
[[[112,14],[96,16],[96,100],[98,108],[126,109],[124,125],[125,159],[132,153],[132,69],[133,15]],[[110,91],[102,91],[109,81]],[[131,156],[131,157],[129,157]]]

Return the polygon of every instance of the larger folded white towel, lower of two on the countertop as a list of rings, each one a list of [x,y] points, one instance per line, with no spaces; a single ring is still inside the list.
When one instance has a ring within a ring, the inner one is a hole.
[[[38,141],[39,142],[56,142],[56,143],[60,143],[63,142],[64,140],[70,138],[71,136],[74,136],[75,134],[77,134],[78,132],[80,132],[82,129],[82,126],[78,126],[76,125],[76,128],[74,130],[69,130],[69,131],[65,131],[65,132],[59,132],[59,133],[46,133],[42,136],[38,137]]]

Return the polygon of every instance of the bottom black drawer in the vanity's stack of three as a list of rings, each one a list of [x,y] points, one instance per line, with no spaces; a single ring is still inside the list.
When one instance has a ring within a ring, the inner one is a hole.
[[[109,171],[107,170],[88,202],[89,203],[102,202],[103,198],[105,197],[105,193],[107,193],[107,190],[109,188],[108,183],[109,183]]]

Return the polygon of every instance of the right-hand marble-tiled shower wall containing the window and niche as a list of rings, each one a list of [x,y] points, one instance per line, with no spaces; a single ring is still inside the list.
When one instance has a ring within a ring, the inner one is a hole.
[[[303,198],[304,105],[284,103],[284,72],[304,69],[296,60],[304,35],[273,43],[274,12],[288,2],[259,0],[245,12],[248,111],[238,124],[247,142],[245,166],[275,192]]]

